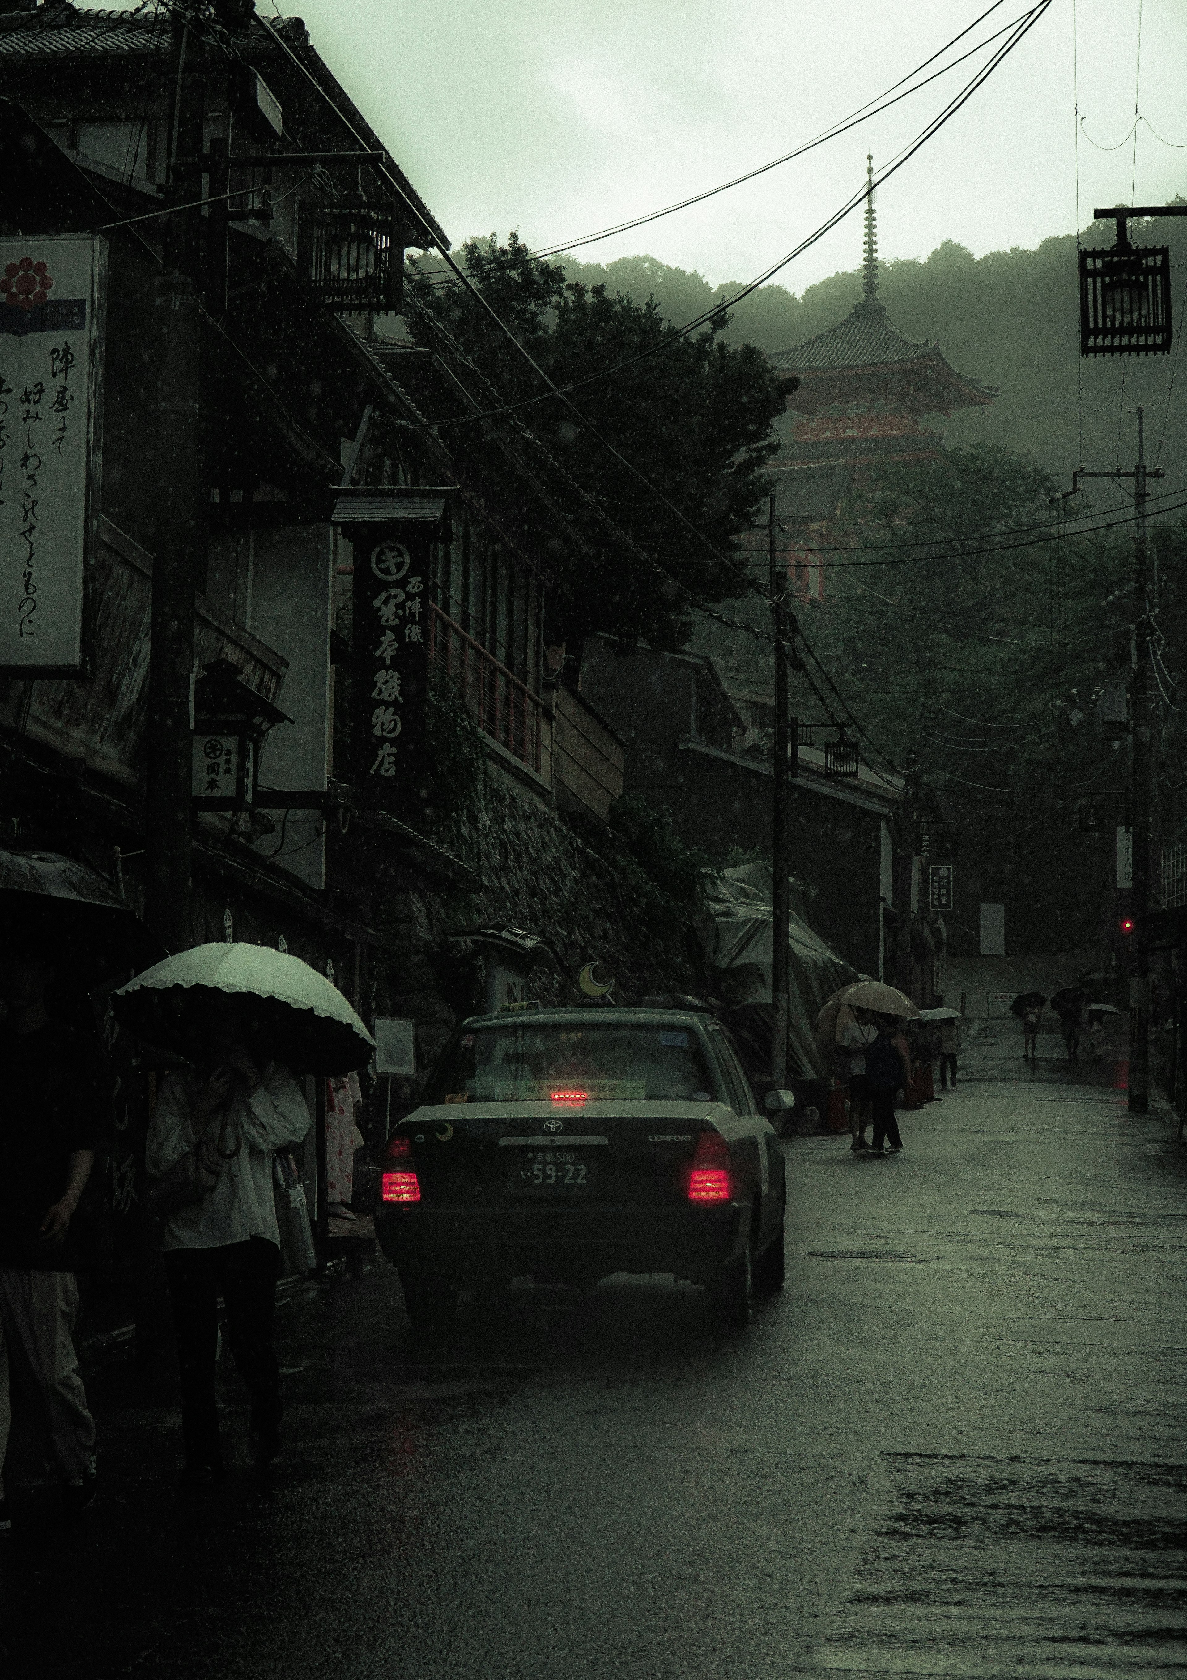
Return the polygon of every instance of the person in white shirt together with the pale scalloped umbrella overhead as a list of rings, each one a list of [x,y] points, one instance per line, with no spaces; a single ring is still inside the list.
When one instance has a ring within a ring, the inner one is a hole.
[[[165,1215],[165,1267],[181,1374],[181,1480],[225,1473],[215,1398],[218,1297],[252,1394],[248,1450],[280,1446],[272,1317],[280,1233],[272,1154],[302,1141],[309,1109],[290,1067],[329,1075],[359,1067],[373,1040],[346,998],[309,964],[248,944],[207,944],[166,958],[112,998],[118,1020],[186,1053],[166,1074],[148,1136],[151,1191]]]

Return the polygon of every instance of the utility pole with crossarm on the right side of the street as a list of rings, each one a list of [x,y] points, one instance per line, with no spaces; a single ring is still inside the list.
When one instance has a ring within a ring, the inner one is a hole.
[[[1137,212],[1132,212],[1137,213]],[[1148,613],[1150,578],[1147,548],[1148,480],[1165,474],[1145,464],[1145,415],[1138,417],[1138,459],[1133,472],[1086,472],[1080,467],[1071,475],[1075,491],[1080,479],[1133,479],[1133,570],[1130,573],[1130,612],[1133,615],[1130,647],[1130,1114],[1145,1114],[1150,1099],[1150,946],[1147,917],[1150,914],[1150,845],[1152,845],[1152,751],[1150,751],[1150,672],[1148,672]]]

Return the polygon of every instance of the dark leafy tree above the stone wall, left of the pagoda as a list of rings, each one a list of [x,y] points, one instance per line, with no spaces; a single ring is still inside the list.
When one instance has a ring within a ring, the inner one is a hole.
[[[482,299],[556,385],[625,363],[573,393],[576,413],[554,396],[539,402],[544,380],[472,292],[440,274],[410,279],[406,319],[416,341],[452,358],[478,393],[448,349],[460,346],[487,381],[485,402],[527,403],[497,425],[579,533],[584,553],[557,534],[539,499],[507,491],[505,459],[478,427],[442,427],[458,452],[485,464],[492,487],[517,496],[519,529],[549,556],[549,640],[579,647],[603,630],[682,647],[688,593],[709,601],[735,593],[724,556],[754,519],[761,469],[776,449],[782,395],[762,354],[725,344],[725,318],[667,343],[653,302],[569,282],[562,265],[531,259],[514,235],[505,247],[470,242],[463,257]]]

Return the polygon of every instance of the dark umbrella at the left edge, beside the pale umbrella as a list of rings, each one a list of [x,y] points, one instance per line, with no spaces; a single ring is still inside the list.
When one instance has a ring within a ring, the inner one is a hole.
[[[0,850],[0,937],[34,941],[87,991],[165,956],[102,875],[60,852]]]

